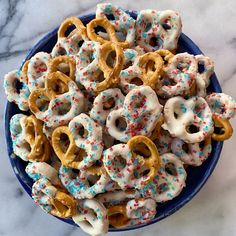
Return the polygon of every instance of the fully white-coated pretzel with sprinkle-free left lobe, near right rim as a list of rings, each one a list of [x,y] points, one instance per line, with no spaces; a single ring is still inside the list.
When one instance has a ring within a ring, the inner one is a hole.
[[[202,97],[169,99],[164,107],[164,119],[162,128],[187,143],[201,142],[213,133],[212,112]]]

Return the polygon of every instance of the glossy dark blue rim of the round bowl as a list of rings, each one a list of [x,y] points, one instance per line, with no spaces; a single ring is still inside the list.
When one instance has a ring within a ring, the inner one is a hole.
[[[127,10],[126,11],[129,15],[131,15],[133,18],[137,17],[137,11],[132,11],[132,10]],[[78,18],[84,22],[84,21],[88,21],[90,19],[93,19],[95,17],[94,13],[89,13],[86,15],[80,15],[78,16]],[[22,65],[24,64],[24,62],[31,58],[36,52],[38,48],[41,48],[43,45],[45,45],[52,36],[54,36],[57,31],[58,31],[59,27],[56,27],[55,29],[53,29],[52,31],[48,32],[45,36],[43,36],[26,54],[25,59],[22,62]],[[203,52],[200,50],[200,48],[188,37],[186,36],[184,33],[181,33],[180,38],[181,40],[183,40],[184,42],[186,42],[187,45],[189,45],[189,47],[191,47],[192,51],[195,54],[203,54]],[[222,92],[221,90],[221,86],[219,84],[219,81],[217,79],[217,77],[215,76],[214,78],[214,88],[215,88],[215,92]],[[5,107],[5,115],[4,115],[4,120],[5,120],[5,129],[4,129],[4,135],[5,135],[5,143],[7,146],[7,153],[8,153],[8,158],[10,160],[13,172],[15,173],[18,181],[20,182],[21,186],[23,187],[23,189],[28,193],[28,195],[30,196],[30,198],[32,199],[31,196],[31,188],[30,186],[28,186],[18,175],[18,173],[15,171],[14,169],[14,160],[11,157],[12,152],[11,152],[11,147],[9,145],[9,139],[11,138],[9,135],[9,121],[11,119],[10,117],[10,107],[11,107],[12,103],[7,101],[6,107]],[[182,208],[184,205],[186,205],[191,199],[193,199],[194,196],[196,196],[196,194],[201,190],[201,188],[205,185],[206,181],[208,180],[208,178],[211,176],[212,172],[214,171],[216,164],[220,158],[220,154],[221,154],[221,150],[223,147],[223,142],[216,142],[216,146],[215,146],[215,152],[217,153],[214,156],[214,160],[212,162],[212,164],[210,165],[210,167],[207,169],[204,178],[201,182],[198,183],[198,185],[196,186],[196,188],[189,194],[188,197],[184,198],[182,201],[180,201],[178,204],[176,204],[175,207],[171,208],[170,210],[166,211],[165,213],[163,213],[162,215],[157,215],[157,217],[153,218],[150,222],[148,223],[144,223],[144,224],[140,224],[140,225],[134,225],[134,226],[129,226],[126,228],[120,228],[120,229],[116,229],[116,228],[110,228],[109,227],[109,232],[121,232],[121,231],[128,231],[128,230],[134,230],[134,229],[139,229],[139,228],[143,228],[146,227],[148,225],[152,225],[154,223],[157,223],[158,221],[161,221],[162,219],[172,215],[173,213],[175,213],[176,211],[178,211],[180,208]],[[56,217],[56,216],[54,216]],[[68,221],[68,219],[63,219],[63,218],[59,218],[56,217],[59,220],[66,222],[67,224],[70,224],[72,226],[74,226],[74,224],[72,224],[70,221]],[[69,219],[70,220],[70,219]],[[78,226],[78,225],[77,225]],[[79,227],[79,226],[78,226]]]

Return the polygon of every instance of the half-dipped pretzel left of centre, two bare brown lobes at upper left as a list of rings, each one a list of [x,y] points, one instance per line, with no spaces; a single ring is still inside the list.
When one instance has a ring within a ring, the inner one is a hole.
[[[48,127],[68,124],[84,110],[84,95],[73,80],[59,71],[50,74],[47,80],[47,88],[30,94],[30,110]]]

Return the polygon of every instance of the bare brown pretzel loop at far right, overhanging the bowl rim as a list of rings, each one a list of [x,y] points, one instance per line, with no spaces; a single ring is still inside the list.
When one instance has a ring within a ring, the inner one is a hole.
[[[214,131],[214,133],[212,134],[213,140],[224,141],[232,136],[233,128],[228,119],[213,115],[213,121],[215,128],[218,128],[221,131],[220,133]]]

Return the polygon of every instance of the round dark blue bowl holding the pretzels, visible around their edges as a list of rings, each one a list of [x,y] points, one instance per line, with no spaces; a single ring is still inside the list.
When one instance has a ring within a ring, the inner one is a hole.
[[[133,18],[136,19],[137,17],[136,12],[134,11],[127,11],[127,12]],[[87,24],[94,18],[95,18],[95,14],[89,14],[89,15],[80,17],[81,21],[84,24]],[[40,51],[45,51],[48,53],[51,52],[53,46],[55,45],[57,41],[57,30],[58,28],[56,28],[52,32],[48,33],[44,38],[42,38],[31,49],[31,51],[28,53],[25,60],[30,59],[33,55],[35,55],[37,52],[40,52]],[[193,41],[189,39],[183,33],[181,34],[179,38],[179,42],[178,42],[177,53],[180,53],[180,52],[188,52],[194,55],[202,54],[198,46],[195,45]],[[218,92],[218,93],[221,92],[221,87],[219,85],[219,82],[215,74],[213,74],[211,77],[211,83],[210,83],[210,86],[208,87],[208,90],[211,92]],[[25,173],[25,167],[27,163],[18,157],[14,157],[13,155],[9,123],[10,123],[11,117],[17,113],[24,113],[24,112],[20,111],[14,103],[8,102],[6,106],[6,112],[5,112],[5,136],[6,136],[7,150],[8,150],[8,155],[9,155],[9,159],[10,159],[13,171],[15,172],[17,179],[19,180],[19,182],[21,183],[25,191],[31,196],[31,187],[32,187],[33,181]],[[223,142],[213,141],[212,145],[213,145],[213,148],[212,148],[212,153],[210,157],[200,167],[190,166],[187,168],[188,177],[186,181],[186,187],[183,189],[181,194],[169,202],[158,204],[158,211],[157,211],[158,213],[151,222],[149,222],[148,224],[141,224],[141,225],[136,225],[132,227],[126,227],[124,229],[110,228],[109,231],[133,230],[133,229],[138,229],[147,225],[154,224],[170,216],[171,214],[176,212],[178,209],[180,209],[182,206],[184,206],[187,202],[189,202],[206,183],[207,179],[210,177],[213,170],[215,169],[216,163],[220,157]],[[66,219],[66,220],[61,219],[61,218],[58,218],[58,219],[68,224],[76,225],[71,219]]]

